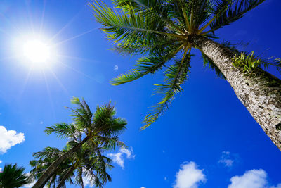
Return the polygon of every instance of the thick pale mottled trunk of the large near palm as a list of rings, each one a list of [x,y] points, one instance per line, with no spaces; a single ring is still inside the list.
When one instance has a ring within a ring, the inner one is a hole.
[[[281,80],[261,68],[245,74],[233,66],[233,51],[211,39],[195,36],[190,39],[221,70],[238,99],[251,116],[281,150]]]

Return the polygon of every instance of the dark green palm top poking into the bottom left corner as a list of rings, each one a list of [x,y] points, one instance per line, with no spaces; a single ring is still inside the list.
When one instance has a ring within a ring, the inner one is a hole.
[[[28,184],[28,176],[23,173],[24,171],[25,168],[18,167],[17,164],[6,164],[4,170],[0,172],[0,187],[22,187],[23,185]]]

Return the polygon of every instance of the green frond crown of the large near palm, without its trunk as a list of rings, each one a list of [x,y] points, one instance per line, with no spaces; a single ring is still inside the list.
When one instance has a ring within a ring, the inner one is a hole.
[[[157,84],[156,94],[163,98],[145,116],[142,129],[151,125],[182,92],[190,73],[190,51],[198,48],[196,36],[214,38],[214,32],[229,25],[264,0],[114,0],[114,8],[93,1],[96,20],[103,25],[107,38],[121,54],[144,54],[129,73],[112,80],[113,85],[136,80],[148,73],[164,70],[164,83]],[[204,55],[216,73],[216,65]]]

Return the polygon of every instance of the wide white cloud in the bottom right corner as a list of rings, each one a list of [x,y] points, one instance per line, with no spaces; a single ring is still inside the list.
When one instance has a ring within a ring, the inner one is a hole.
[[[230,182],[228,188],[281,188],[281,184],[276,187],[269,186],[266,171],[263,169],[248,170],[244,175],[231,177]]]

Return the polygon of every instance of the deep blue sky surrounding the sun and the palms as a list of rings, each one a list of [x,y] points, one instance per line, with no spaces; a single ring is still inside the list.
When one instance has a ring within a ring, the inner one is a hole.
[[[140,131],[143,115],[159,100],[152,92],[153,84],[162,82],[162,74],[111,86],[109,81],[131,69],[136,57],[107,50],[112,44],[98,30],[100,25],[86,3],[1,1],[0,168],[18,163],[28,172],[32,152],[46,146],[61,149],[66,140],[43,131],[48,125],[70,122],[64,106],[71,106],[71,97],[78,96],[93,110],[111,100],[117,115],[128,121],[122,140],[129,149],[110,152],[117,163],[110,171],[112,182],[105,187],[233,188],[254,187],[254,183],[281,187],[280,151],[228,82],[203,68],[200,56],[192,59],[183,94],[166,115]],[[265,58],[280,57],[280,7],[281,1],[268,0],[216,35],[219,41],[249,42],[242,50]],[[30,70],[19,57],[22,43],[15,41],[40,33],[52,39],[59,55],[51,69]],[[269,71],[280,77],[276,70]]]

